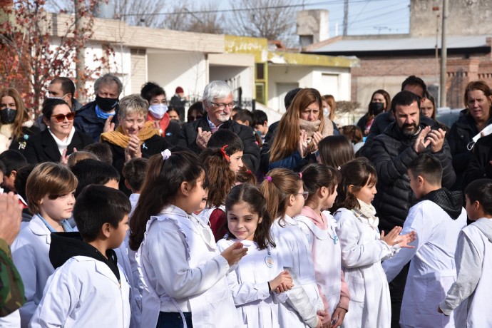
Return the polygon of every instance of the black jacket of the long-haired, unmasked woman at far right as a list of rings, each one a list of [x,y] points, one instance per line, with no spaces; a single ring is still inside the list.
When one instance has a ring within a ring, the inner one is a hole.
[[[487,121],[486,125],[491,123],[492,118]],[[472,159],[471,150],[468,150],[467,146],[477,134],[478,128],[476,128],[475,120],[468,113],[468,109],[461,111],[458,121],[446,133],[451,155],[453,156],[453,168],[456,172],[456,183],[453,185],[453,190],[463,190],[465,188],[463,175]]]

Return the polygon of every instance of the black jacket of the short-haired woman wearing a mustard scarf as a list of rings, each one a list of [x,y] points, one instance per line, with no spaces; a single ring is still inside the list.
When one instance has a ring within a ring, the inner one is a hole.
[[[123,178],[123,165],[125,165],[125,148],[121,148],[119,145],[104,141],[111,148],[111,153],[113,153],[113,166],[120,173],[120,183],[119,189],[123,193],[130,195],[131,190],[128,190],[125,186],[125,178]],[[165,138],[160,135],[153,135],[152,138],[145,140],[142,145],[140,145],[140,150],[142,151],[143,158],[149,158],[152,155],[158,154],[161,151],[173,147],[165,140]]]

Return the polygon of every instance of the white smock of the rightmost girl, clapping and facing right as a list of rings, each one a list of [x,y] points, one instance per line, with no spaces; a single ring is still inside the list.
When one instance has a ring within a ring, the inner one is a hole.
[[[334,217],[350,290],[343,327],[390,327],[391,301],[381,260],[393,256],[396,249],[379,240],[379,230],[361,222],[351,210],[340,208]]]

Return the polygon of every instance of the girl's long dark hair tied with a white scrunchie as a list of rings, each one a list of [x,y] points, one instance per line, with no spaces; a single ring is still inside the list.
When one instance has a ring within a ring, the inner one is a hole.
[[[140,247],[150,217],[173,203],[183,181],[195,185],[203,172],[198,156],[190,150],[165,150],[150,157],[140,198],[130,219],[129,245],[132,250]]]

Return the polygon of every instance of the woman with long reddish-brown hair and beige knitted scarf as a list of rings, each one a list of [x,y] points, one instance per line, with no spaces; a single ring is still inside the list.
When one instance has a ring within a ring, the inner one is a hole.
[[[335,134],[335,127],[323,116],[322,97],[314,88],[304,88],[294,97],[272,137],[272,145],[263,145],[261,168],[300,171],[308,163],[316,163],[318,143]],[[338,131],[336,132],[338,134]]]

